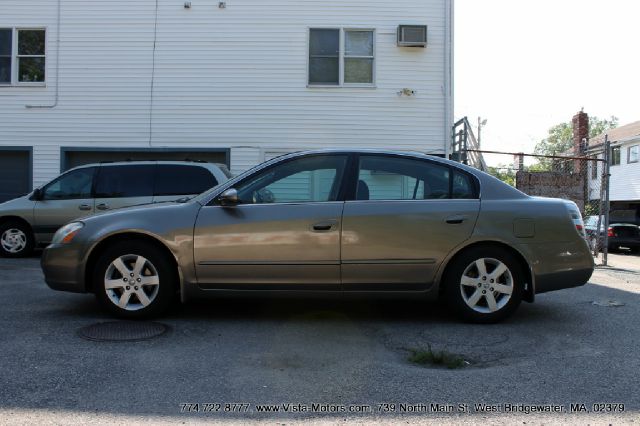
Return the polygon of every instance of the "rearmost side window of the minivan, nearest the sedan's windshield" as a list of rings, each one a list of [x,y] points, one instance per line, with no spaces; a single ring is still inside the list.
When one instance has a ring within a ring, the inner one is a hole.
[[[195,195],[213,188],[219,182],[200,166],[159,164],[156,169],[154,196]]]

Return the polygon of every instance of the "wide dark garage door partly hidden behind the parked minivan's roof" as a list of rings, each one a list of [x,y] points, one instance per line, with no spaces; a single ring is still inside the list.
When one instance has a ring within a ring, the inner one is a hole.
[[[134,150],[134,151],[63,151],[63,171],[76,166],[101,161],[136,160],[197,160],[227,164],[226,151],[178,151],[178,150]]]

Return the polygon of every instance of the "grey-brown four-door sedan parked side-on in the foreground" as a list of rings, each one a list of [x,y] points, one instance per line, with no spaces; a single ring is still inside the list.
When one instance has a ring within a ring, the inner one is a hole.
[[[442,297],[488,323],[587,282],[581,227],[573,202],[529,197],[452,161],[307,151],[188,201],[71,222],[42,268],[52,289],[94,293],[123,318],[157,316],[176,297],[323,292]]]

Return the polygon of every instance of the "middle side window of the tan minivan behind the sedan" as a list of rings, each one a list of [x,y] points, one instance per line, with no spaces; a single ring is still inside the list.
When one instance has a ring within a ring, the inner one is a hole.
[[[150,197],[155,165],[101,166],[96,198]]]

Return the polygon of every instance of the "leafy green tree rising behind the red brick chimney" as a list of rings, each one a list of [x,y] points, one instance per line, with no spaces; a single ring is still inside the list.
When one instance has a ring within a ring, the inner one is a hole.
[[[618,117],[611,116],[609,119],[589,117],[589,137],[593,138],[609,129],[618,126]],[[536,144],[533,152],[537,155],[570,155],[573,148],[573,128],[571,122],[556,124],[549,129],[545,139]],[[532,169],[548,171],[552,169],[553,159],[539,158],[538,164]]]

